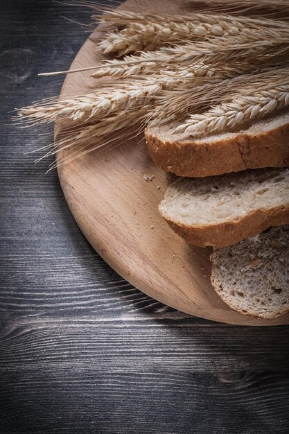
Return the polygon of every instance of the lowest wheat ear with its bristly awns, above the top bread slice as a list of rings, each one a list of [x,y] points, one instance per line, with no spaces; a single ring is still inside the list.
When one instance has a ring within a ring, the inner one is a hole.
[[[180,92],[166,90],[147,118],[155,126],[178,121],[175,133],[202,137],[234,128],[289,104],[289,67],[237,75]]]

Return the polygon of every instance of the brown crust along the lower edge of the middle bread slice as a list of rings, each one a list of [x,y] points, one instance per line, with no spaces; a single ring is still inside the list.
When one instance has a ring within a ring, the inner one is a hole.
[[[179,236],[188,243],[202,248],[208,245],[216,248],[225,247],[243,241],[249,236],[260,234],[270,226],[289,224],[288,207],[256,209],[238,220],[215,225],[185,225],[175,222],[164,213],[161,213],[161,216]]]

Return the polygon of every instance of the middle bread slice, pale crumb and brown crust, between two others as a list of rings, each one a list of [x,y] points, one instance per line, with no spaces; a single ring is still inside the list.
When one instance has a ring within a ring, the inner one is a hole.
[[[223,247],[289,223],[289,168],[179,178],[159,212],[189,243]]]

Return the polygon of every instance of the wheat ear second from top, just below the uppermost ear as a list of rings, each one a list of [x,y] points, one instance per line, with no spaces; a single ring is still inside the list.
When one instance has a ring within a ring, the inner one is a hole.
[[[123,60],[105,60],[103,66],[96,67],[94,78],[103,76],[131,76],[139,73],[150,74],[161,69],[177,69],[179,65],[186,68],[194,63],[222,65],[243,61],[245,69],[251,64],[254,68],[270,65],[270,62],[288,59],[288,38],[276,36],[270,40],[252,39],[240,44],[234,37],[220,37],[202,42],[189,42],[181,46],[162,47],[157,51],[142,52],[139,55],[125,56]],[[159,66],[161,64],[161,67]]]

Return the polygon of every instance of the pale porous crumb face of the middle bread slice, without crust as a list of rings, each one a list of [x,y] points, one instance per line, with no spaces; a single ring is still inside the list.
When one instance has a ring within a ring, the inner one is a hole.
[[[215,225],[278,207],[289,207],[289,168],[180,178],[168,187],[159,211],[182,225]]]

